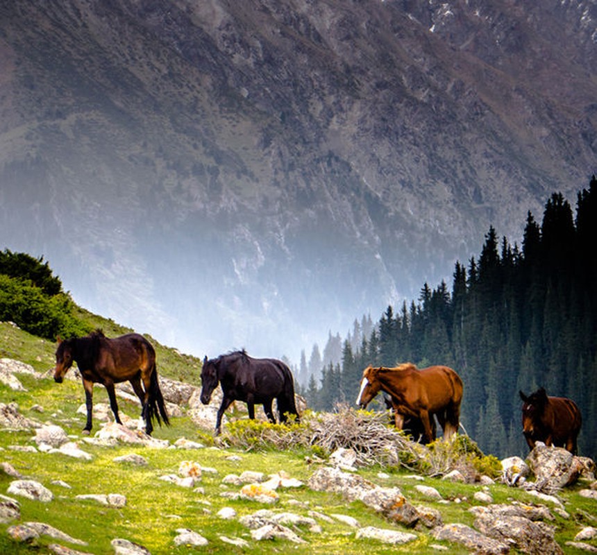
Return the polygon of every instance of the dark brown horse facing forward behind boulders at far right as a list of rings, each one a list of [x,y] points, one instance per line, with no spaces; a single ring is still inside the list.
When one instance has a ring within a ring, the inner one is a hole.
[[[548,397],[542,387],[528,397],[519,393],[523,400],[523,434],[529,449],[542,441],[545,445],[562,445],[576,454],[582,417],[575,402],[565,397]]]

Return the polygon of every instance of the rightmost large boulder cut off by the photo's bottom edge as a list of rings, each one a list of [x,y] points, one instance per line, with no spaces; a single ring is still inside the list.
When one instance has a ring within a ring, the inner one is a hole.
[[[476,507],[475,526],[481,533],[500,540],[514,543],[516,549],[531,555],[563,554],[562,548],[554,539],[554,530],[544,522],[533,522],[519,515],[499,515],[491,509]]]

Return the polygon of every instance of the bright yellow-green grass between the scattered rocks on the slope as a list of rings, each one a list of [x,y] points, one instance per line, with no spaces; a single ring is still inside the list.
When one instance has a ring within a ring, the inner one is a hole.
[[[112,335],[126,330],[110,328],[105,322],[101,325],[106,334]],[[42,341],[21,330],[7,324],[0,324],[1,357],[12,357],[32,364],[36,370],[44,372],[53,366],[53,351],[55,345],[49,341]],[[160,362],[161,361],[161,362]],[[194,364],[198,361],[180,355],[175,351],[167,351],[160,346],[158,350],[160,371],[169,377],[185,377],[187,374],[198,373]],[[189,370],[186,366],[189,363]],[[41,422],[54,422],[62,426],[67,434],[72,434],[81,440],[81,429],[85,424],[85,416],[77,414],[76,410],[84,402],[83,387],[78,382],[70,380],[62,384],[55,384],[51,375],[43,379],[35,379],[28,375],[19,375],[22,384],[28,391],[12,391],[0,384],[1,402],[17,402],[21,413],[28,418],[35,418]],[[191,380],[187,380],[191,381]],[[196,380],[195,380],[196,382]],[[106,391],[97,387],[94,392],[94,402],[108,402]],[[139,408],[135,404],[119,399],[121,411],[128,416],[137,418]],[[42,412],[40,412],[40,408]],[[177,438],[185,437],[200,441],[205,445],[213,443],[211,431],[199,429],[187,417],[172,418],[171,427],[157,427],[153,436],[168,439],[174,443]],[[99,422],[94,422],[93,432],[99,429]],[[92,433],[93,433],[92,432]],[[6,461],[14,466],[25,477],[40,481],[50,488],[55,497],[49,503],[34,502],[19,497],[21,504],[21,522],[39,521],[51,524],[74,538],[84,540],[87,546],[69,545],[72,549],[92,554],[112,554],[110,540],[126,538],[144,545],[154,554],[188,554],[194,552],[210,554],[262,554],[287,553],[296,554],[337,554],[362,555],[417,553],[423,555],[436,554],[430,547],[435,540],[428,531],[416,531],[418,539],[401,547],[383,545],[373,540],[357,540],[355,531],[346,524],[336,522],[328,524],[319,522],[323,531],[314,533],[306,528],[297,532],[306,540],[304,545],[295,545],[283,540],[264,541],[258,543],[252,540],[249,529],[238,522],[238,517],[254,513],[258,509],[271,508],[260,503],[244,500],[230,500],[221,497],[224,491],[236,491],[235,486],[224,486],[222,478],[229,474],[240,474],[243,470],[256,470],[270,474],[284,470],[292,477],[306,481],[317,465],[305,462],[305,455],[311,454],[303,450],[267,450],[262,452],[244,452],[238,449],[218,449],[206,447],[201,450],[156,450],[138,445],[117,445],[116,447],[98,447],[87,445],[80,441],[83,450],[92,454],[92,461],[81,461],[62,454],[28,453],[10,449],[12,445],[34,445],[31,432],[10,432],[0,429],[0,461]],[[147,466],[138,467],[115,463],[117,456],[137,453],[145,457]],[[235,454],[242,461],[230,460]],[[176,474],[181,461],[192,460],[203,467],[217,468],[218,474],[204,473],[201,487],[204,493],[196,493],[191,489],[169,484],[159,479],[165,474]],[[389,477],[378,477],[378,472],[386,472]],[[442,513],[444,522],[464,522],[472,524],[472,515],[467,511],[473,504],[476,491],[481,486],[474,484],[452,484],[440,479],[426,478],[424,482],[415,481],[408,477],[410,472],[397,471],[386,468],[366,468],[359,471],[360,475],[370,479],[380,486],[398,486],[407,499],[413,504],[423,504],[434,507]],[[55,480],[64,480],[71,489],[51,484]],[[12,478],[0,472],[0,494],[6,495],[6,490]],[[448,504],[430,502],[421,496],[414,488],[416,484],[424,483],[439,490],[445,499],[460,499]],[[566,510],[571,518],[564,520],[557,517],[557,540],[564,545],[566,540],[573,539],[582,526],[595,522],[588,522],[587,513],[595,515],[595,503],[583,499],[572,488],[566,490],[562,497],[566,500]],[[517,499],[521,502],[535,503],[522,490],[507,488],[500,484],[490,487],[496,502],[510,502]],[[127,503],[122,509],[111,509],[91,501],[75,499],[76,495],[86,493],[121,493],[126,495]],[[314,492],[306,486],[299,489],[278,490],[279,502],[273,506],[274,511],[290,511],[306,515],[314,510],[328,515],[342,513],[358,519],[361,526],[375,526],[389,529],[401,529],[392,522],[387,522],[372,509],[361,502],[346,502],[340,495]],[[237,518],[222,520],[217,511],[224,506],[230,506],[237,511]],[[12,522],[10,524],[15,524]],[[12,542],[6,534],[10,524],[0,524],[0,553],[15,554],[47,554],[50,543],[57,542],[42,536],[31,545],[20,545]],[[207,547],[192,548],[187,546],[175,547],[173,540],[177,528],[189,528],[208,538]],[[240,548],[224,543],[219,536],[242,538],[249,542],[250,547]],[[468,550],[457,545],[444,543],[451,554],[466,554]],[[565,547],[566,554],[581,553]]]

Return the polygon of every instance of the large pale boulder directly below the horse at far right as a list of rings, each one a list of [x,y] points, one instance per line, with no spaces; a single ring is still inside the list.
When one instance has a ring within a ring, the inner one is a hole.
[[[582,472],[578,458],[563,447],[547,447],[538,442],[528,455],[528,465],[535,474],[535,488],[541,493],[553,494],[573,484]]]

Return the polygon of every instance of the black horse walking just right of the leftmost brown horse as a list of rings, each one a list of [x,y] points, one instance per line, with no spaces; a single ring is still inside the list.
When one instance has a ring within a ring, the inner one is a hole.
[[[287,421],[287,414],[299,413],[294,404],[294,379],[292,372],[282,361],[276,359],[253,359],[244,350],[221,355],[217,359],[205,357],[201,370],[201,402],[208,404],[212,393],[221,385],[224,396],[217,413],[215,434],[221,432],[224,411],[233,401],[244,401],[249,418],[255,418],[255,404],[262,404],[267,418],[276,422],[271,404],[278,402],[280,422]]]

